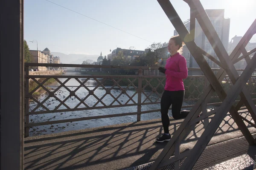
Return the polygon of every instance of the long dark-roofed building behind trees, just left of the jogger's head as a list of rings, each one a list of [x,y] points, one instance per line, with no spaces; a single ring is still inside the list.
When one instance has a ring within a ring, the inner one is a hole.
[[[116,48],[114,49],[111,54],[108,54],[108,60],[112,60],[114,57],[116,57],[119,53],[119,51],[122,51],[125,56],[128,56],[133,60],[135,57],[140,57],[140,55],[143,55],[146,53],[148,49],[145,49],[144,51],[141,50],[131,50],[131,49],[122,49],[122,48]]]

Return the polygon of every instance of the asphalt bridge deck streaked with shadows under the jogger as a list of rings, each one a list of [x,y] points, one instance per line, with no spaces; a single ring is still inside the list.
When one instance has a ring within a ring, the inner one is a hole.
[[[246,116],[247,119],[251,119],[247,115],[246,110],[240,111],[240,113]],[[182,121],[171,120],[169,128],[171,134],[177,130]],[[121,170],[147,164],[148,162],[154,161],[166,145],[166,143],[155,142],[155,138],[160,135],[161,126],[161,120],[155,119],[29,137],[25,139],[25,169]],[[256,133],[254,127],[249,126],[249,130],[251,133]],[[186,140],[183,141],[180,152],[191,149],[203,131],[204,124],[202,122],[195,125]],[[238,130],[237,125],[234,123],[230,114],[227,114],[215,132],[215,136],[209,142],[209,145],[212,145],[209,147],[215,146],[213,144],[220,144],[221,142],[241,136],[242,134]],[[243,142],[240,141],[240,144],[247,147],[247,142],[244,139],[241,140]],[[225,145],[233,146],[233,143],[228,141]],[[236,156],[239,154],[242,156],[244,154],[242,152],[238,153],[235,149],[230,150],[229,147],[223,147],[223,149],[225,148],[227,148],[229,153],[234,153],[233,155]],[[204,158],[209,163],[207,165],[208,167],[212,167],[213,164],[210,158],[214,156],[218,157],[218,154],[225,153],[223,149],[214,150],[211,153],[214,155]],[[223,161],[227,161],[227,159]],[[214,163],[219,164],[220,162],[216,161]],[[204,165],[204,168],[207,166]]]

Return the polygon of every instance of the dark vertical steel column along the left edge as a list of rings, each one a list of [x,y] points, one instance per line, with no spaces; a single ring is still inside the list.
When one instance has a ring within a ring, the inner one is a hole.
[[[0,169],[23,170],[23,0],[0,1]]]

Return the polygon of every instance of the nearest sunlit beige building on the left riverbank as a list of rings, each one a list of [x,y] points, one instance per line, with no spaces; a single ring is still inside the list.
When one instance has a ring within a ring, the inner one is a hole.
[[[34,63],[48,63],[48,55],[44,54],[43,51],[29,50],[31,56],[33,57]],[[47,71],[47,67],[34,67],[38,71]]]

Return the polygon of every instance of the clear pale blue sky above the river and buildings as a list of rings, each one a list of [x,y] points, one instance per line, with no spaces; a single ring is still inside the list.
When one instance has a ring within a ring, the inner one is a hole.
[[[189,19],[189,6],[183,0],[170,2],[181,20]],[[243,36],[256,19],[256,0],[201,3],[205,9],[225,9],[225,18],[230,18],[230,39]],[[64,54],[102,51],[107,56],[116,47],[144,50],[152,42],[167,42],[174,30],[157,0],[24,0],[24,38],[32,50],[37,46],[29,41],[37,40],[41,51],[46,47]]]

